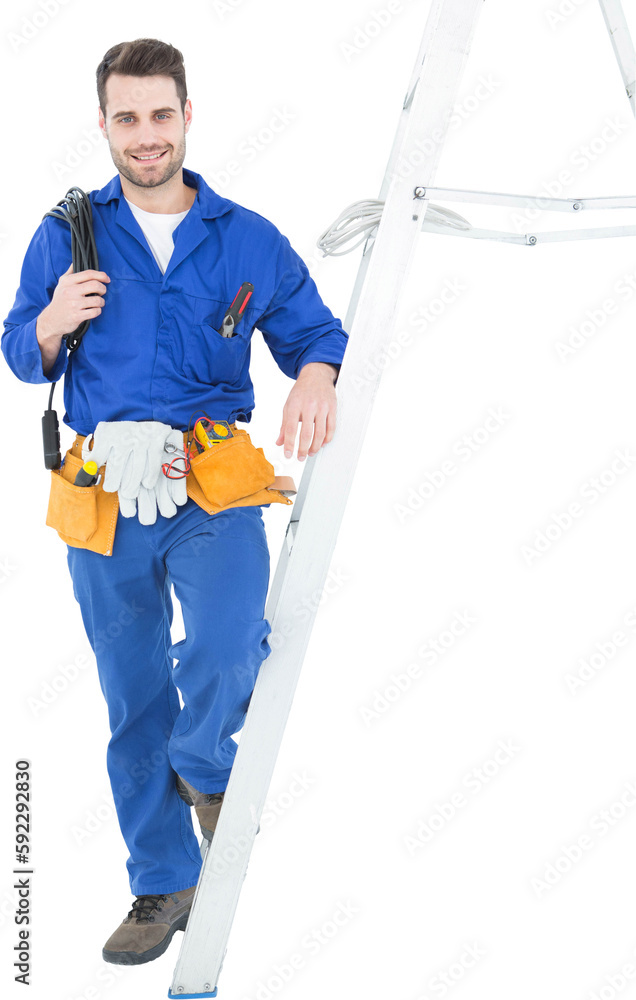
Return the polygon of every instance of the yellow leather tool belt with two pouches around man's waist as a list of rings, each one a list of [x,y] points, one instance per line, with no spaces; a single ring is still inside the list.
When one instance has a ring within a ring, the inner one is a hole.
[[[287,494],[296,493],[291,476],[275,476],[274,466],[265,458],[262,448],[254,447],[247,431],[236,424],[230,427],[231,438],[191,458],[186,484],[188,496],[208,514],[218,514],[230,507],[291,504],[293,501]],[[46,523],[68,545],[110,556],[119,497],[117,493],[106,493],[102,487],[105,465],[99,469],[100,479],[95,486],[75,486],[75,477],[84,464],[82,444],[86,437],[78,434],[61,467],[50,470]],[[184,450],[187,438],[184,431]]]

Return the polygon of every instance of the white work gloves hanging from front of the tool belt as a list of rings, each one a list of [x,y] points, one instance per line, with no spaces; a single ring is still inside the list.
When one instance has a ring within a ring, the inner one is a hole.
[[[177,456],[185,458],[183,434],[158,420],[100,421],[82,445],[84,461],[92,458],[98,468],[106,466],[103,489],[119,494],[123,517],[135,516],[139,499],[142,524],[154,524],[157,504],[162,514],[165,511],[166,517],[172,517],[177,512],[175,504],[187,501],[185,477],[168,479],[161,469]],[[175,467],[181,471],[183,461],[175,462]]]

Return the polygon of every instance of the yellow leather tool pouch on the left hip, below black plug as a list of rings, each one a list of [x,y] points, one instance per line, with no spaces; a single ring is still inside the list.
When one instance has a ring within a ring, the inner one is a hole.
[[[51,469],[46,523],[55,528],[68,545],[109,556],[113,551],[119,497],[117,493],[104,493],[104,466],[99,470],[102,481],[96,486],[74,485],[75,477],[84,464],[81,444],[79,455],[77,450],[76,441],[66,452],[61,467]]]

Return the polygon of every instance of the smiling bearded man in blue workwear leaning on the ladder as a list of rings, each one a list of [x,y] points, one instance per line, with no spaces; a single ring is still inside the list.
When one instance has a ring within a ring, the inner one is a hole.
[[[210,513],[186,495],[184,435],[195,415],[225,421],[237,437],[236,421],[251,420],[249,343],[258,327],[295,380],[276,444],[290,457],[300,423],[298,458],[316,454],[334,434],[347,334],[276,227],[183,168],[192,106],[178,50],[155,39],[115,45],[98,67],[97,90],[99,126],[118,171],[89,195],[100,270],[72,273],[70,229],[45,218],[27,250],[2,350],[23,381],[65,374],[64,422],[77,434],[66,471],[89,454],[105,470],[102,485],[87,490],[54,471],[60,520],[49,523],[70,536],[68,565],[108,706],[107,767],[137,897],[103,957],[140,964],[185,928],[201,868],[190,805],[211,837],[237,749],[232,734],[271,652],[263,617],[267,494]],[[222,336],[244,281],[253,294],[235,335]],[[62,338],[84,320],[90,327],[67,355]],[[170,454],[181,460],[172,462],[173,476]],[[109,515],[112,548],[91,548],[71,508],[81,504],[99,519],[109,496],[118,504]],[[186,633],[174,644],[171,586]]]

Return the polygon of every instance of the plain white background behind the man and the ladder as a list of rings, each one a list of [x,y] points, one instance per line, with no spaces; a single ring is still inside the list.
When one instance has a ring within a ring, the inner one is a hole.
[[[634,0],[625,6],[636,33]],[[428,7],[393,2],[381,30],[383,0],[68,0],[37,14],[36,30],[34,0],[5,8],[2,315],[43,213],[72,185],[99,188],[114,174],[96,133],[97,64],[116,42],[152,36],[185,57],[185,165],[271,219],[344,319],[360,250],[323,259],[315,240],[350,202],[378,195]],[[636,193],[636,126],[593,0],[489,0],[459,105],[438,186]],[[248,161],[242,143],[281,111],[293,120]],[[232,159],[240,170],[225,183]],[[509,209],[451,207],[518,232],[633,221],[615,212],[520,222]],[[633,238],[530,248],[422,235],[391,338],[401,332],[403,343],[382,377],[333,555],[341,582],[318,612],[244,883],[225,1000],[636,996],[636,296],[625,291],[635,274]],[[448,282],[462,290],[440,309]],[[436,312],[428,324],[423,310]],[[561,360],[557,342],[581,328],[582,346]],[[298,483],[304,466],[274,445],[292,382],[258,333],[253,359],[252,440]],[[24,995],[13,983],[11,887],[14,761],[26,756],[29,996],[166,996],[181,935],[144,966],[101,959],[132,904],[106,707],[65,546],[44,523],[48,390],[6,365],[0,378],[0,974],[10,996]],[[61,419],[61,385],[55,395]],[[483,434],[491,408],[505,419]],[[62,434],[69,447],[72,432]],[[464,435],[480,442],[469,460],[455,450]],[[608,472],[618,451],[627,465]],[[427,493],[429,474],[449,462],[454,474],[401,517],[398,505],[413,489]],[[592,493],[602,474],[604,492]],[[559,533],[554,516],[565,524],[575,502],[581,516]],[[265,513],[272,574],[288,516],[276,505]],[[552,540],[527,559],[524,546],[548,525]],[[458,614],[472,623],[431,663],[427,644],[441,633],[448,642]],[[591,679],[573,692],[568,675],[594,654]],[[500,744],[512,749],[496,762]],[[293,798],[296,774],[310,787]],[[333,931],[343,906],[351,917],[310,949],[307,935]]]

